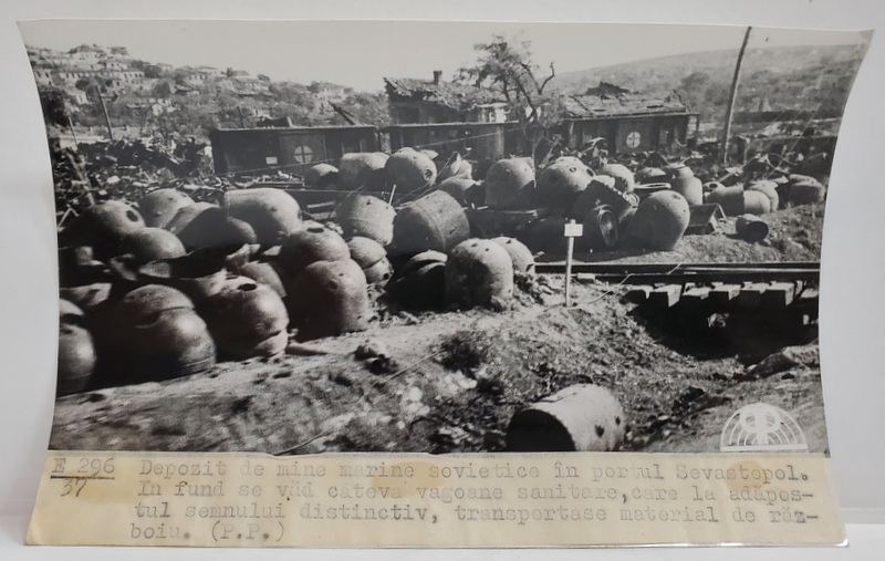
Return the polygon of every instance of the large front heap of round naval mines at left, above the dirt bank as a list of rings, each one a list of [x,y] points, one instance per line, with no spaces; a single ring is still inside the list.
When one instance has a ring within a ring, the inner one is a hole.
[[[408,180],[409,169],[394,173]],[[157,189],[88,207],[59,232],[60,394],[274,356],[290,330],[299,340],[364,330],[388,283],[394,305],[499,308],[513,293],[511,253],[520,270],[533,264],[516,240],[470,239],[442,191],[399,212],[354,193],[332,218],[304,220],[274,188],[229,190],[219,204]]]

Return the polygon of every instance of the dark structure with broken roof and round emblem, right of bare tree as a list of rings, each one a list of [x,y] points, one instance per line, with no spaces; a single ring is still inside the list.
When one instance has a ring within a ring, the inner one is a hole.
[[[675,93],[656,97],[601,82],[563,101],[563,137],[571,148],[601,137],[614,153],[663,149],[685,144],[697,126],[697,114]]]

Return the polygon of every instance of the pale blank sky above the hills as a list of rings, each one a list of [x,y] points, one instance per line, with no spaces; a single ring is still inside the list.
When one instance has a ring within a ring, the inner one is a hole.
[[[126,46],[129,55],[175,66],[210,65],[274,81],[327,81],[377,91],[383,76],[450,77],[493,33],[530,40],[534,62],[558,73],[641,59],[740,46],[746,28],[587,23],[402,21],[43,20],[20,22],[25,44],[69,50]],[[754,28],[750,48],[868,43],[861,31]]]

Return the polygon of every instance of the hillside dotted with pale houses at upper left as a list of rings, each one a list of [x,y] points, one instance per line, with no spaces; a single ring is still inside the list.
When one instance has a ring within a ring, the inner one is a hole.
[[[69,51],[28,46],[41,96],[64,102],[70,128],[83,138],[192,135],[250,127],[266,120],[295,125],[384,124],[386,98],[326,82],[273,82],[263,74],[214,66],[176,67],[129,56],[124,46],[83,44]],[[100,100],[101,97],[101,100]],[[346,106],[343,114],[336,106]],[[288,121],[287,121],[288,120]],[[70,131],[69,131],[70,133]]]

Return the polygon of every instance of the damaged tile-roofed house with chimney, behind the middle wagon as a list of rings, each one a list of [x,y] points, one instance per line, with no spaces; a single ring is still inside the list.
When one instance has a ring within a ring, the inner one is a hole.
[[[503,123],[507,103],[493,92],[444,82],[440,71],[433,80],[385,77],[384,84],[396,124]]]

